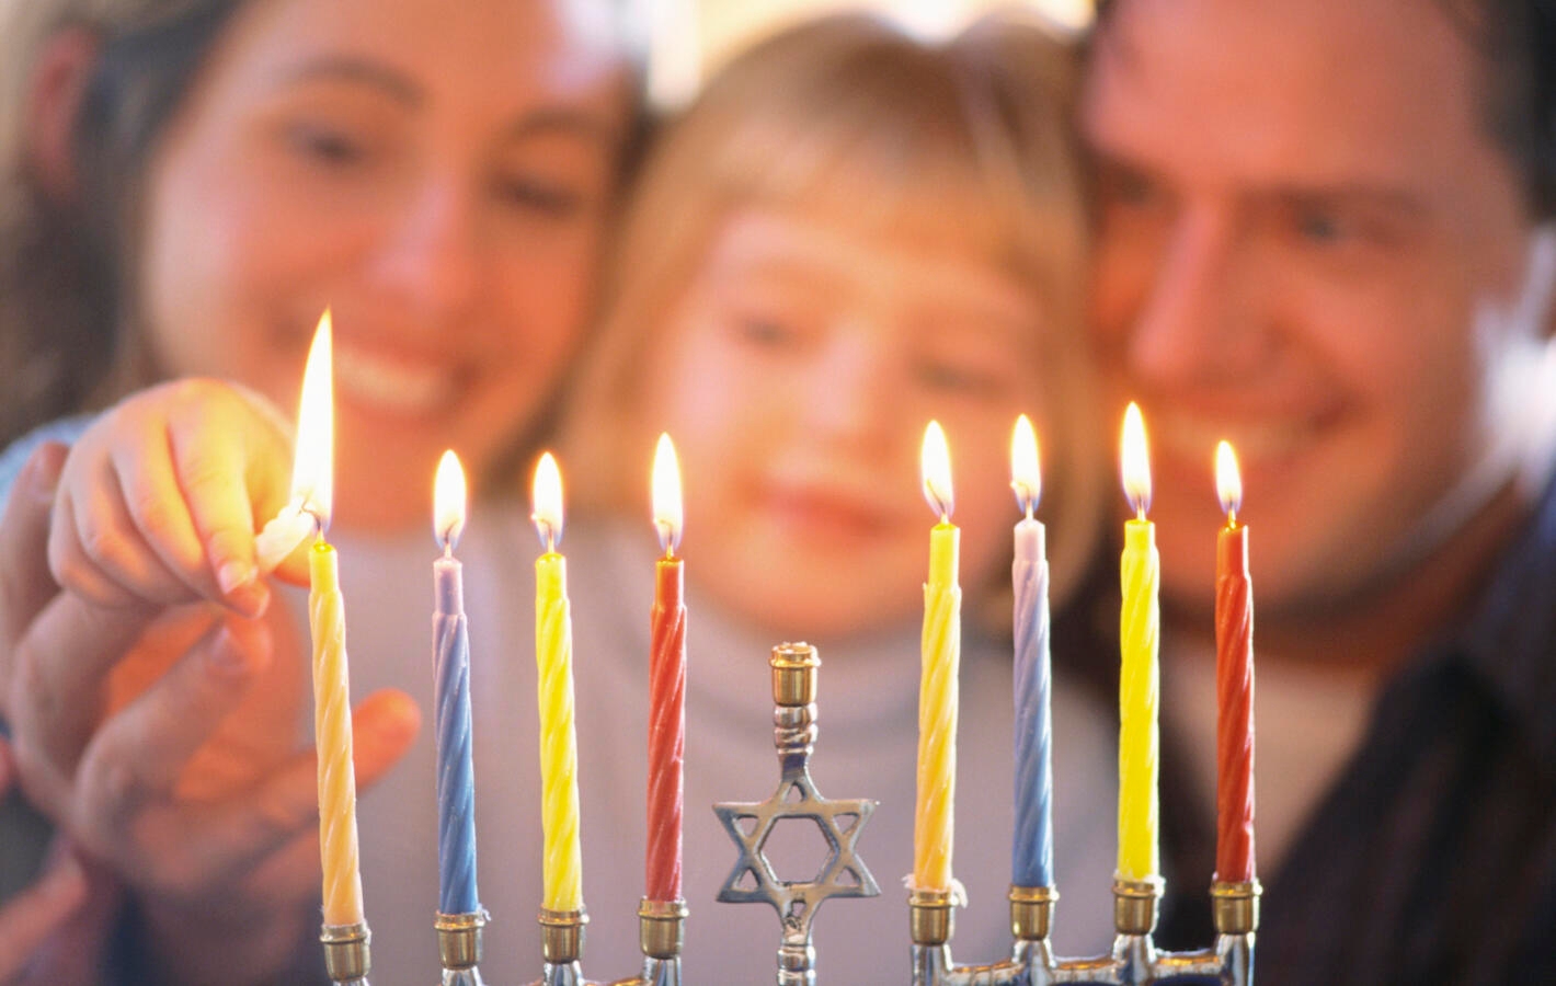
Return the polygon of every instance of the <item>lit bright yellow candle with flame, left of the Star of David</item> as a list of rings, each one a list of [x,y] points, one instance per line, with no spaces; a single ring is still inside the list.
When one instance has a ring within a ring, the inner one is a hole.
[[[546,552],[535,560],[535,663],[540,670],[540,804],[545,832],[543,904],[584,908],[579,849],[579,751],[573,717],[573,617],[562,540],[562,474],[546,453],[535,467],[534,521]]]

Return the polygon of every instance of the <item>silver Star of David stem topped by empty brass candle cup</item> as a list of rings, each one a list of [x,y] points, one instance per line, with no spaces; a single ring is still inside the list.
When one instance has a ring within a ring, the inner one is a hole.
[[[874,897],[881,893],[859,855],[859,834],[870,821],[876,801],[853,798],[831,801],[811,779],[811,753],[815,750],[815,678],[822,661],[806,644],[773,649],[773,745],[778,748],[781,778],[767,801],[724,801],[713,806],[725,832],[739,846],[741,857],[719,890],[725,904],[770,904],[783,924],[778,949],[780,986],[815,983],[815,949],[811,921],[823,900],[831,897]],[[828,844],[828,855],[815,879],[783,880],[773,871],[762,846],[773,827],[784,820],[809,820]]]

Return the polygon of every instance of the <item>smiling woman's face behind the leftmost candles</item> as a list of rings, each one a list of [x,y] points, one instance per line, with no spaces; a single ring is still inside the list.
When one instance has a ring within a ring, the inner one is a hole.
[[[443,448],[479,473],[545,411],[627,126],[601,11],[254,0],[170,123],[142,215],[157,367],[294,407],[333,308],[341,523],[428,516]]]

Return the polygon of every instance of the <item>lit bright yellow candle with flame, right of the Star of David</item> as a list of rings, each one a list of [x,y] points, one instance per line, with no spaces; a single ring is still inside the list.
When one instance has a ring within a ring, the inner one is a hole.
[[[1156,526],[1145,519],[1151,502],[1151,471],[1145,448],[1145,423],[1131,403],[1123,417],[1123,491],[1134,519],[1123,526],[1122,589],[1119,619],[1119,877],[1144,880],[1161,866],[1156,846],[1156,708],[1159,681],[1156,649],[1161,611],[1161,557]]]

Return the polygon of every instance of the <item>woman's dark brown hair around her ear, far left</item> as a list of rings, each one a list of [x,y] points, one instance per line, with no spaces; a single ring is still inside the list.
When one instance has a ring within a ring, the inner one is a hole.
[[[146,160],[241,0],[12,0],[0,9],[0,443],[104,403],[124,367],[123,247]],[[34,62],[61,31],[98,44],[72,134],[75,194],[26,146]]]

